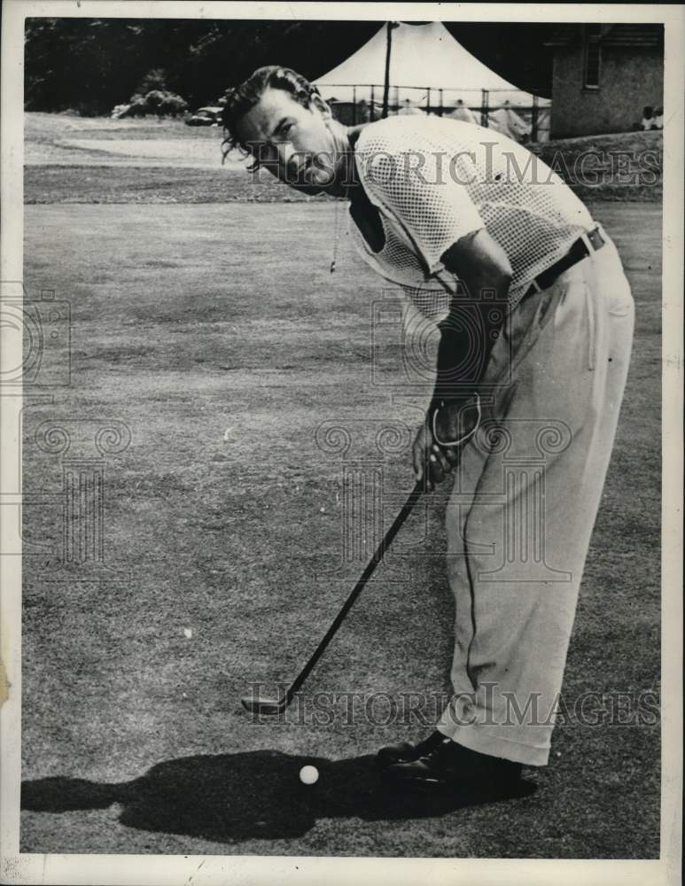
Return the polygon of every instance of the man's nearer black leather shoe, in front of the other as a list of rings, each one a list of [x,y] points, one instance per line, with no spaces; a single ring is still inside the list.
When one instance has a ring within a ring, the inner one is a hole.
[[[383,777],[401,787],[507,794],[521,785],[521,768],[520,763],[481,754],[448,740],[419,758],[386,766]]]

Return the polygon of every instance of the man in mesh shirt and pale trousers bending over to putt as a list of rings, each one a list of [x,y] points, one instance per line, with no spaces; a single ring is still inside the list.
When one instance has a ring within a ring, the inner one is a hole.
[[[455,477],[454,696],[423,742],[378,763],[401,785],[506,793],[549,760],[633,337],[619,255],[549,167],[470,122],[346,128],[274,66],[230,91],[224,127],[227,151],[348,199],[363,260],[440,330],[413,460],[429,489]]]

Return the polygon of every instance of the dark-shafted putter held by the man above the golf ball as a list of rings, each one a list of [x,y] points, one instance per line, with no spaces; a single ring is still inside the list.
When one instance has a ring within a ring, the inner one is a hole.
[[[388,548],[395,535],[397,535],[397,532],[399,532],[401,525],[404,523],[407,517],[409,517],[412,509],[414,509],[414,505],[416,504],[416,501],[418,501],[421,497],[421,494],[424,492],[424,488],[424,479],[417,480],[416,486],[414,486],[412,491],[409,493],[409,497],[407,501],[405,501],[402,505],[400,513],[397,515],[397,517],[394,518],[393,525],[390,527],[390,529],[388,529],[387,532],[385,532],[385,537],[378,545],[376,553],[371,557],[369,563],[362,572],[359,581],[357,581],[356,585],[354,585],[352,593],[343,603],[342,609],[339,611],[335,620],[331,624],[331,627],[329,627],[328,631],[326,631],[326,633],[324,634],[323,640],[316,647],[314,653],[309,658],[309,661],[307,662],[307,664],[305,664],[297,677],[292,680],[291,685],[285,690],[284,694],[280,698],[265,698],[259,695],[245,696],[244,698],[241,698],[241,702],[243,703],[243,707],[246,711],[260,714],[279,714],[282,713],[285,708],[287,708],[287,706],[292,702],[292,696],[295,695],[304,681],[307,680],[307,677],[309,676],[312,668],[319,660],[319,658],[322,657],[324,650],[337,633],[339,626],[342,625],[343,621],[345,620],[346,614],[349,612],[349,610],[352,609],[354,601],[362,593],[364,586],[373,575],[376,567],[378,566],[378,563],[380,563],[383,559],[386,548]]]

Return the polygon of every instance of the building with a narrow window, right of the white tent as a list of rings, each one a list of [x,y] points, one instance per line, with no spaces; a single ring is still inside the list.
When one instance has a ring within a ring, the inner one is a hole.
[[[627,132],[664,103],[663,25],[560,25],[545,45],[552,138]]]

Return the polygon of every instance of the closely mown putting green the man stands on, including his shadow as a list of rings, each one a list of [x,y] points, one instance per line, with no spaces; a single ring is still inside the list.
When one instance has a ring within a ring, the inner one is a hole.
[[[27,399],[22,429],[21,851],[658,856],[660,206],[592,209],[637,327],[564,698],[624,694],[633,718],[560,723],[534,793],[463,806],[388,795],[370,766],[448,692],[440,494],[300,703],[255,723],[239,702],[292,679],[362,569],[346,467],[382,471],[385,525],[412,486],[430,383],[403,377],[393,293],[345,238],[329,273],[334,206],[26,207],[27,292],[68,301],[72,328],[71,385]],[[113,421],[128,446],[79,469],[101,471],[105,563],[60,571],[67,461],[100,457]],[[37,445],[44,422],[72,423],[68,453]]]

